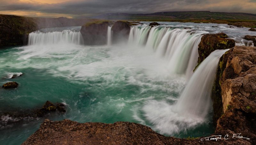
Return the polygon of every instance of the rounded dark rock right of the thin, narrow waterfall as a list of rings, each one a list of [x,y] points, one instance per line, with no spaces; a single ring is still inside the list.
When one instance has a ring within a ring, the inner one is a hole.
[[[127,40],[130,33],[130,26],[132,25],[136,24],[132,24],[128,21],[116,21],[116,23],[112,26],[113,43]]]

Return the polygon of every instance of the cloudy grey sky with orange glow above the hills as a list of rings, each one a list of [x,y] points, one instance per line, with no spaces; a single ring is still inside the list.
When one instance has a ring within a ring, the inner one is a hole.
[[[104,13],[219,11],[256,14],[256,0],[0,0],[0,14],[92,17]]]

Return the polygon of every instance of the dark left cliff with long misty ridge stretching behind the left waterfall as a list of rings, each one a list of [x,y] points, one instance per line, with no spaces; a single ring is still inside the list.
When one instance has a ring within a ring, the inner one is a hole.
[[[28,34],[42,28],[81,26],[92,21],[96,21],[96,19],[34,18],[0,14],[0,48],[27,45]]]

